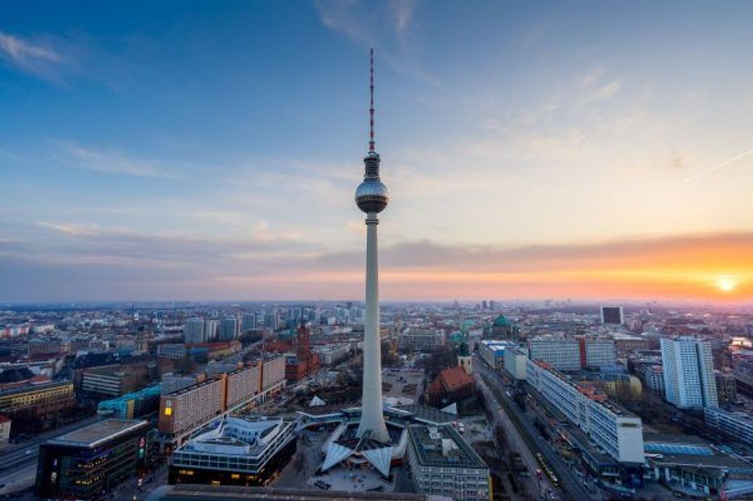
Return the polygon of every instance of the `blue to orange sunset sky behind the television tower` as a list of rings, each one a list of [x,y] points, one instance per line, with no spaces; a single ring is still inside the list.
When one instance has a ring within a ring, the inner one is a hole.
[[[751,2],[2,2],[0,301],[753,299]]]

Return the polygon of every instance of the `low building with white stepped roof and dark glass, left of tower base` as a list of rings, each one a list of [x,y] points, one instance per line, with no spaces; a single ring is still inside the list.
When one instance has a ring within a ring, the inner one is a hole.
[[[169,483],[267,485],[295,453],[293,431],[282,418],[226,417],[173,452]]]

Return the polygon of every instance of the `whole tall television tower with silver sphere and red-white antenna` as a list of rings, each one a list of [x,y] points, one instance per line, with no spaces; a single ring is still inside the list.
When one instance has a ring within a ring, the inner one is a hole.
[[[364,322],[364,389],[361,423],[356,435],[389,442],[382,409],[382,348],[379,320],[379,249],[377,214],[389,202],[389,191],[380,181],[380,156],[374,147],[374,50],[370,50],[369,151],[364,158],[364,181],[355,190],[355,203],[366,213],[366,321]]]

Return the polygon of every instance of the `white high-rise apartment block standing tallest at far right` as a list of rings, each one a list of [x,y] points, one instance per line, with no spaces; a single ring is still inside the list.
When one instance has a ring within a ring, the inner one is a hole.
[[[666,401],[678,408],[717,407],[709,342],[683,336],[660,343]]]

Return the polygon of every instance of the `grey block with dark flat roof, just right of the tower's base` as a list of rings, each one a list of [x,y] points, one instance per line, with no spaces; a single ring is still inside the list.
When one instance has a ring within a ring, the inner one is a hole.
[[[453,427],[411,425],[407,453],[419,493],[455,501],[492,499],[489,467]]]

